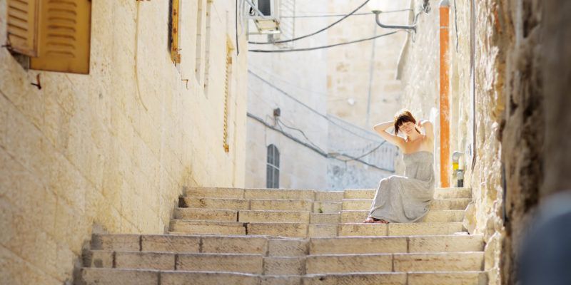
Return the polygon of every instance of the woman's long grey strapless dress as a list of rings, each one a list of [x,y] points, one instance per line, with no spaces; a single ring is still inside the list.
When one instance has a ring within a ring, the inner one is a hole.
[[[428,213],[434,196],[433,153],[403,154],[405,176],[380,180],[369,216],[387,222],[417,222]]]

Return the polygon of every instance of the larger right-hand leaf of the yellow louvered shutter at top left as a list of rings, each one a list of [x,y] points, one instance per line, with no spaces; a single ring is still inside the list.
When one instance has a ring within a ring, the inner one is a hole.
[[[88,74],[91,1],[41,0],[39,14],[39,54],[30,67]]]

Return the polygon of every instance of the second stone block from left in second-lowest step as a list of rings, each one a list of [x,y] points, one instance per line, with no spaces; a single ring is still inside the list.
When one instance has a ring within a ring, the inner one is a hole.
[[[156,252],[116,252],[115,267],[122,269],[174,270],[175,254]]]

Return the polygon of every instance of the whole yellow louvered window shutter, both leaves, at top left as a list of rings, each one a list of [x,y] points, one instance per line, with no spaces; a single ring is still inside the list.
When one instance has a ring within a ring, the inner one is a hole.
[[[9,0],[8,40],[30,68],[89,73],[91,0]]]

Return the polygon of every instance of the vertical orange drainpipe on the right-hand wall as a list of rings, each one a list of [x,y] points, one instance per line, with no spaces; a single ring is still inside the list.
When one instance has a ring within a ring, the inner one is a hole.
[[[450,187],[450,2],[440,1],[440,187]]]

